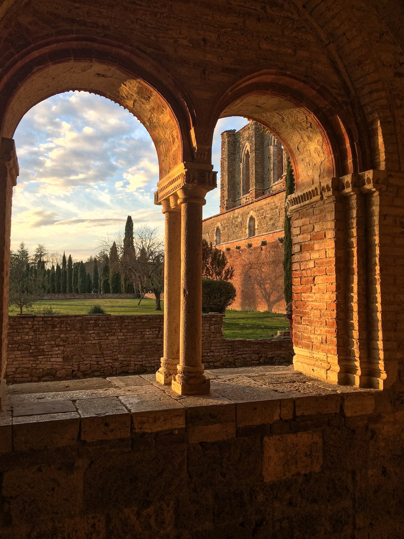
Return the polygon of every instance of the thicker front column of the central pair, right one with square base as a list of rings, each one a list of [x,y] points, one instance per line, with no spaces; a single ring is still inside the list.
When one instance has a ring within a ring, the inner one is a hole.
[[[210,393],[202,364],[202,206],[206,189],[178,191],[181,206],[181,288],[178,373],[171,388],[179,395]]]

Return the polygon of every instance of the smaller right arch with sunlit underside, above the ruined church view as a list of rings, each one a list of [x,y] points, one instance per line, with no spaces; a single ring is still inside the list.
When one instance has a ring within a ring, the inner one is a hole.
[[[358,143],[349,107],[316,81],[260,72],[235,84],[217,102],[217,118],[246,116],[268,127],[286,148],[297,189],[363,170],[370,154]],[[365,162],[365,164],[364,164]]]

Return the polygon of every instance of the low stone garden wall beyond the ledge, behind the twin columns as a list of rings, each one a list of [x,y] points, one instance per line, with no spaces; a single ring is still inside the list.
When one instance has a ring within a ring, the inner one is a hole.
[[[291,363],[290,339],[225,339],[223,316],[203,315],[206,368]],[[9,383],[151,373],[162,355],[162,315],[9,317]]]

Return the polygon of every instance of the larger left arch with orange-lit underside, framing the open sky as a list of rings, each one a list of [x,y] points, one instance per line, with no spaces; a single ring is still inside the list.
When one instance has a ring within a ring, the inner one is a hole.
[[[79,90],[119,103],[143,123],[157,150],[160,178],[179,163],[192,160],[192,120],[185,100],[169,77],[170,88],[145,71],[143,58],[128,58],[110,44],[66,39],[16,60],[15,66],[8,66],[8,77],[0,76],[3,137],[11,139],[24,114],[38,102]]]

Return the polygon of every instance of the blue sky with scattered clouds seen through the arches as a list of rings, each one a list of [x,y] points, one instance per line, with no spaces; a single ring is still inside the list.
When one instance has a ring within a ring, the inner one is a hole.
[[[219,120],[214,170],[220,171],[220,133],[246,123]],[[124,230],[128,215],[135,228],[148,224],[164,232],[164,216],[154,205],[157,153],[126,109],[86,92],[54,95],[27,112],[14,139],[20,172],[13,190],[13,250],[24,241],[30,254],[44,244],[49,252],[86,260],[96,254],[99,238]],[[219,189],[206,198],[204,218],[219,212]]]

